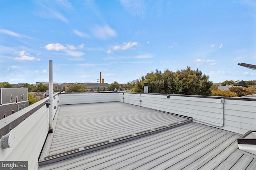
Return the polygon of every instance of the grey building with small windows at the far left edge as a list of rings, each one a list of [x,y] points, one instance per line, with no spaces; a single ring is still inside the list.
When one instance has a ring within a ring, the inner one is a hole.
[[[0,119],[28,106],[28,88],[0,88]]]

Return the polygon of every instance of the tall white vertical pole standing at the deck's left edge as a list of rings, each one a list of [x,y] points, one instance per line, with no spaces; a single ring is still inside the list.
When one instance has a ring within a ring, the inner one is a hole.
[[[52,94],[53,94],[53,84],[52,84],[52,60],[49,60],[49,133],[52,133],[53,127],[53,111],[52,111]]]

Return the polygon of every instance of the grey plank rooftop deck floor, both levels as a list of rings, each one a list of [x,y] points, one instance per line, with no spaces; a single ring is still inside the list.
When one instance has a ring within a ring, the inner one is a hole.
[[[48,162],[39,169],[256,167],[256,157],[238,149],[236,140],[240,135],[184,117],[122,102],[62,105],[58,109],[56,128],[48,136],[40,158]],[[70,152],[99,143],[107,145],[80,155],[72,156]],[[52,161],[54,156],[68,152],[68,158]]]

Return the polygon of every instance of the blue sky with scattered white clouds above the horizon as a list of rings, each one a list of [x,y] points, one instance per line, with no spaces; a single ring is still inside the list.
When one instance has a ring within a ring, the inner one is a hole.
[[[255,80],[255,0],[1,0],[0,82],[127,83],[198,68]]]

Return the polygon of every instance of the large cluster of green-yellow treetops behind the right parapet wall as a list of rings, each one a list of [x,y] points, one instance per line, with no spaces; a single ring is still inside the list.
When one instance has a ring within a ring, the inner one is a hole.
[[[177,72],[156,69],[145,77],[128,82],[126,88],[132,92],[143,92],[143,83],[147,82],[149,93],[210,95],[213,83],[208,79],[200,70],[192,70],[189,66]]]

